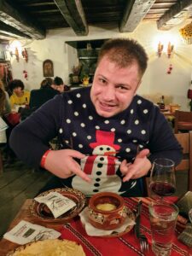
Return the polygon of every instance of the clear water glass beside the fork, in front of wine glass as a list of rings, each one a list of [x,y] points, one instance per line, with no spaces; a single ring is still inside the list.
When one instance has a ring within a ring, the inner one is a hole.
[[[154,201],[149,207],[152,250],[157,256],[169,256],[178,214],[176,205],[168,201]]]

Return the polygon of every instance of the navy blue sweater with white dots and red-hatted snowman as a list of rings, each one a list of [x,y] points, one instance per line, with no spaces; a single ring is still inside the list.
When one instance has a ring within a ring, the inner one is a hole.
[[[133,161],[138,148],[148,148],[152,162],[163,157],[177,165],[182,159],[182,148],[164,115],[141,96],[134,96],[128,108],[106,119],[96,113],[90,88],[65,92],[17,125],[10,145],[26,164],[38,167],[54,137],[58,137],[60,148],[73,148],[87,155],[80,165],[93,183],[88,185],[79,177],[64,180],[67,186],[86,195],[98,191],[122,195],[133,191],[129,195],[134,195],[138,180],[122,183],[119,163],[124,159]]]

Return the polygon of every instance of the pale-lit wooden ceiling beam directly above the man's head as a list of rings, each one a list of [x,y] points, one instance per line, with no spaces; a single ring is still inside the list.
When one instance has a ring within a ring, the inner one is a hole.
[[[133,32],[139,22],[143,20],[155,0],[127,1],[125,12],[119,23],[119,32]]]

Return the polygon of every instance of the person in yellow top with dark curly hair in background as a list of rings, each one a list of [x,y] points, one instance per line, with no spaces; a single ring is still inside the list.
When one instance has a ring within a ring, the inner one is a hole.
[[[16,105],[28,105],[30,101],[30,91],[24,90],[25,85],[20,79],[14,79],[9,83],[9,89],[12,91],[10,96],[11,108],[15,109]]]

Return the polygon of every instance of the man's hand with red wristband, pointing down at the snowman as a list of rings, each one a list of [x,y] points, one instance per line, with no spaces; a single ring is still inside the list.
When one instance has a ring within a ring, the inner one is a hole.
[[[82,172],[79,163],[74,160],[74,158],[84,157],[84,154],[72,149],[51,150],[45,160],[44,168],[57,177],[67,178],[76,174],[90,182],[90,177]]]

